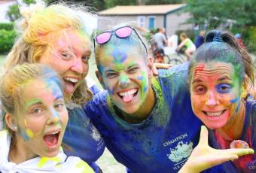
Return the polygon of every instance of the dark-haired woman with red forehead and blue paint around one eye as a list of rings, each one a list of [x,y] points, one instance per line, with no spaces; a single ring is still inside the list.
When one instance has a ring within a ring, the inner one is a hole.
[[[190,62],[194,114],[209,128],[213,147],[256,148],[256,101],[248,99],[254,80],[248,53],[228,32],[211,31]],[[227,172],[255,172],[256,154],[224,164]]]

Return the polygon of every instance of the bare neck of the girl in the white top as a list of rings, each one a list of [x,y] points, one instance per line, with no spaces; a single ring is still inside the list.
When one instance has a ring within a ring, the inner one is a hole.
[[[23,138],[19,138],[17,137],[17,135],[15,135],[15,138],[16,144],[14,145],[14,147],[11,147],[8,155],[11,162],[19,164],[36,156],[35,153],[33,153],[31,150],[29,150],[29,148],[26,147],[27,144],[25,143],[25,141],[23,141]]]

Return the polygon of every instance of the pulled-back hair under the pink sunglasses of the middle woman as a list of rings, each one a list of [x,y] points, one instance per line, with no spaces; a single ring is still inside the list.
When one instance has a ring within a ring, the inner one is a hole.
[[[95,59],[96,59],[96,65],[98,67],[98,70],[100,71],[100,65],[99,65],[99,53],[108,45],[108,44],[114,44],[114,45],[120,45],[120,44],[126,44],[127,46],[131,46],[131,47],[138,47],[140,53],[142,53],[143,56],[145,56],[145,62],[148,62],[148,53],[151,53],[150,50],[150,46],[148,44],[148,41],[145,40],[145,35],[148,34],[148,30],[143,29],[140,26],[137,26],[135,24],[130,24],[130,23],[125,23],[125,24],[121,24],[118,26],[114,26],[113,30],[118,29],[122,26],[130,26],[133,29],[136,29],[136,32],[138,33],[138,35],[136,34],[135,31],[132,32],[132,34],[127,37],[127,38],[118,38],[114,33],[112,33],[110,40],[105,43],[105,44],[97,44],[95,43]],[[145,44],[147,50],[145,50],[145,46],[143,45],[143,43]]]

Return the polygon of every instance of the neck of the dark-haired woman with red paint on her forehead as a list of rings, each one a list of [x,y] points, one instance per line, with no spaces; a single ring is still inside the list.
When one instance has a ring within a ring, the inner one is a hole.
[[[241,102],[241,101],[240,101]],[[233,115],[225,126],[216,131],[227,141],[239,139],[242,135],[242,129],[245,123],[245,104],[242,102],[239,111]]]

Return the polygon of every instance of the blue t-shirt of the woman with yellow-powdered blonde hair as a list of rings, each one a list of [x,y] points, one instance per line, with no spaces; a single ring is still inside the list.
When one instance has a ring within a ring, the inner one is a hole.
[[[75,108],[68,108],[68,111],[69,121],[63,142],[72,147],[72,151],[65,150],[65,153],[68,156],[80,157],[98,172],[95,162],[105,149],[104,140],[82,108],[75,105]]]

